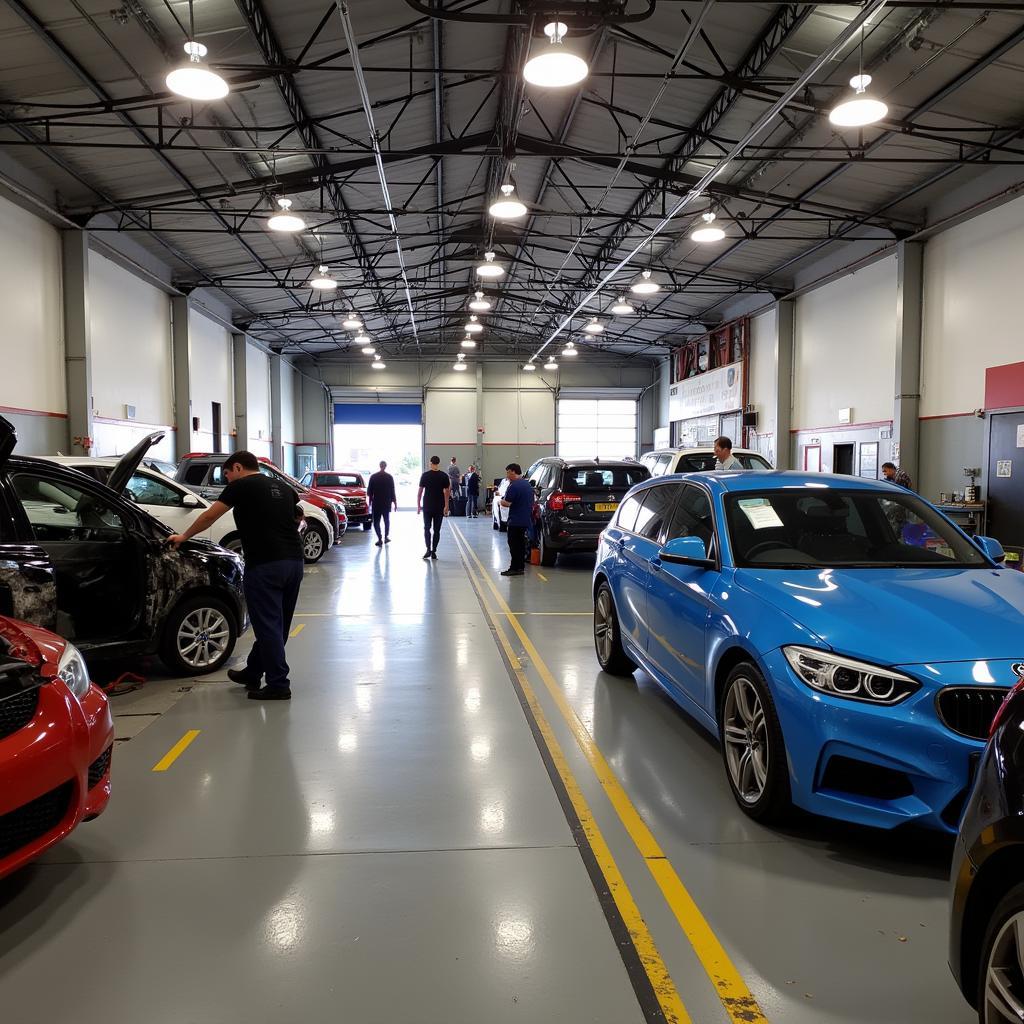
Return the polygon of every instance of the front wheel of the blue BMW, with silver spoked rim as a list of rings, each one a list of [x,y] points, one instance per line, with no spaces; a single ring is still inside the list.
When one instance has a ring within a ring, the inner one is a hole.
[[[719,733],[725,774],[743,813],[766,824],[781,821],[793,806],[785,741],[771,693],[750,662],[726,678]]]

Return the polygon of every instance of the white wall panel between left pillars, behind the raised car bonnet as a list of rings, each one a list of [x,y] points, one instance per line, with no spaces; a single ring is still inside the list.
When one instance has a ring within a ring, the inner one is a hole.
[[[89,253],[93,435],[97,456],[123,455],[159,427],[155,457],[173,458],[171,303],[166,292]],[[128,356],[130,353],[130,357]],[[135,407],[135,422],[125,406]]]

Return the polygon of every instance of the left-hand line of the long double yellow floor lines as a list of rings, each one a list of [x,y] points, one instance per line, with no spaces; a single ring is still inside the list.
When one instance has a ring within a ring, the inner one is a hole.
[[[456,532],[458,534],[458,530]],[[460,548],[468,547],[461,535],[457,538],[456,543]],[[618,865],[615,863],[611,850],[594,818],[586,797],[583,795],[580,783],[575,780],[572,769],[569,768],[565,753],[558,742],[551,724],[544,714],[544,710],[541,708],[540,701],[537,699],[537,693],[532,685],[520,667],[519,657],[512,649],[512,644],[498,614],[486,600],[482,584],[477,581],[465,551],[463,552],[463,560],[465,561],[466,572],[469,574],[470,582],[480,594],[484,612],[490,620],[492,626],[494,626],[495,633],[505,650],[509,664],[512,666],[512,671],[515,672],[519,686],[526,697],[530,714],[534,716],[541,730],[541,735],[544,737],[544,742],[548,749],[548,753],[551,755],[551,760],[558,771],[562,784],[565,786],[565,792],[572,803],[572,809],[580,819],[580,824],[587,836],[590,848],[601,869],[601,873],[604,876],[604,881],[607,883],[608,892],[615,901],[615,906],[618,908],[623,922],[629,930],[630,938],[644,966],[644,971],[650,979],[651,987],[657,997],[662,1013],[665,1015],[665,1020],[667,1024],[691,1024],[690,1015],[687,1013],[686,1007],[683,1006],[683,1000],[680,998],[675,982],[669,974],[669,969],[666,967],[665,961],[662,958],[662,954],[654,943],[654,938],[647,928],[647,923],[643,920],[640,908],[633,899],[633,894],[630,892],[629,886],[626,884],[626,880],[623,878]]]

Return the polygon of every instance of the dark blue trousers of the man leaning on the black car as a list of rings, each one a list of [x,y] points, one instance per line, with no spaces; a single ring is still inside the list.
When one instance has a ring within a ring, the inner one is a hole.
[[[266,677],[267,686],[291,689],[285,644],[292,631],[292,616],[302,586],[302,560],[287,558],[260,565],[246,565],[246,604],[256,642],[246,670],[253,678]]]

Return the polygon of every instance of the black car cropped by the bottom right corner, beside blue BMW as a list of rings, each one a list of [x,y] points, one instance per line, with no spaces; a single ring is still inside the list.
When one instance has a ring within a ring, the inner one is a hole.
[[[1024,680],[1024,662],[1014,666]],[[1024,1020],[1024,682],[981,755],[951,877],[949,967],[980,1024]]]

